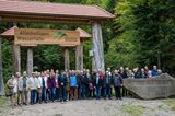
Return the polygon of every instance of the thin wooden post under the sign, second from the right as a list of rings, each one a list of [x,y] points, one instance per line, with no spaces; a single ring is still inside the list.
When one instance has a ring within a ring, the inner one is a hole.
[[[69,48],[65,48],[65,70],[70,70]]]

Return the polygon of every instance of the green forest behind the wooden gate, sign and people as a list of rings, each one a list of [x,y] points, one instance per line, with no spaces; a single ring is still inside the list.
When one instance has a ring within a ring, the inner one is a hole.
[[[115,14],[103,25],[105,67],[156,65],[163,72],[175,74],[175,0],[33,0],[40,2],[98,5]],[[0,22],[0,33],[16,24],[19,27],[75,30],[91,34],[91,25]],[[89,50],[92,42],[84,42],[84,68],[92,68]],[[70,49],[70,67],[75,68],[74,49]],[[2,66],[4,81],[12,74],[12,43],[2,37]],[[26,70],[26,49],[21,50],[22,71]],[[34,49],[34,68],[63,69],[61,47],[40,45]]]

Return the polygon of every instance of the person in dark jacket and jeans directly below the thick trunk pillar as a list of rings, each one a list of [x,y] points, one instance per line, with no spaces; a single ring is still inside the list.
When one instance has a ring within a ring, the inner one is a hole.
[[[102,84],[103,84],[103,80],[100,77],[100,73],[96,73],[96,80],[95,80],[96,100],[101,98]]]

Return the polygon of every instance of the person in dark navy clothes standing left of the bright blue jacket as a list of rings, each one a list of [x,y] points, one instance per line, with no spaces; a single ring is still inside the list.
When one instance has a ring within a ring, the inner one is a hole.
[[[61,74],[58,78],[58,82],[59,82],[60,102],[66,102],[67,100],[67,96],[66,96],[67,77],[63,70],[61,71]]]

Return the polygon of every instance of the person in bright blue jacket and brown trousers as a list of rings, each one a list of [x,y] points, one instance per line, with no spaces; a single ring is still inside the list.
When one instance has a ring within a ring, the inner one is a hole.
[[[78,98],[78,83],[77,83],[77,76],[74,70],[72,70],[70,76],[70,100]]]

